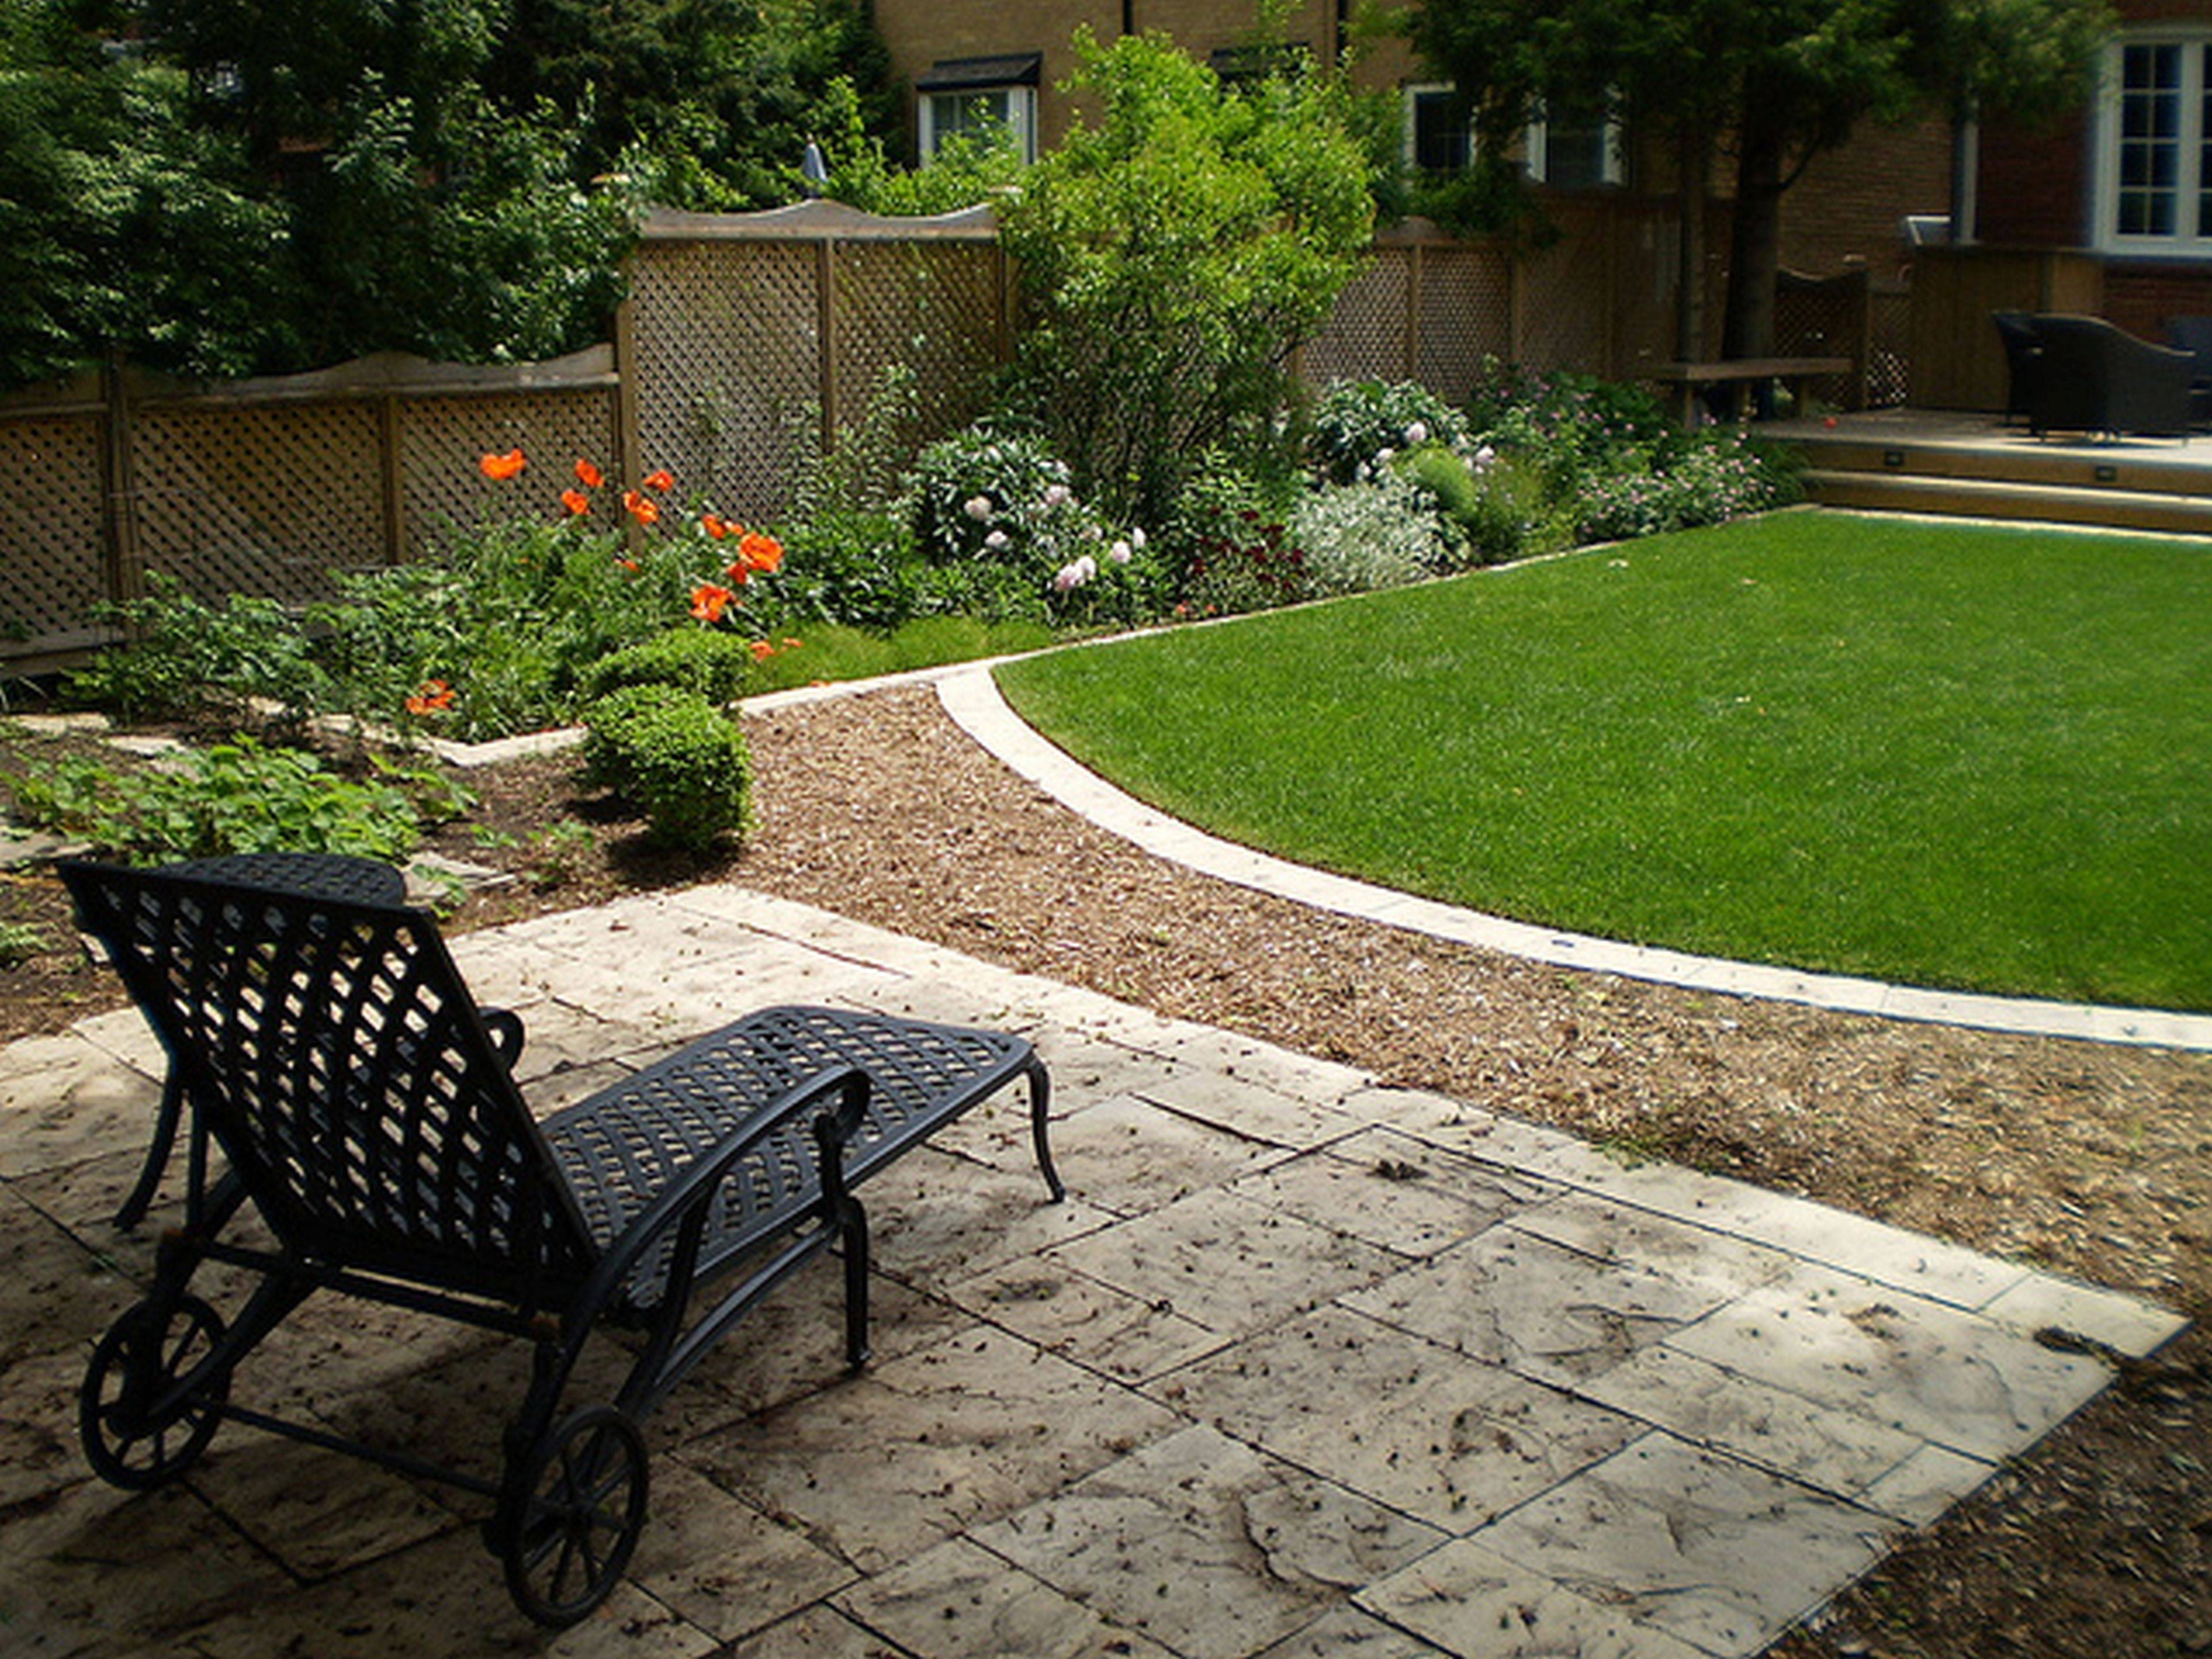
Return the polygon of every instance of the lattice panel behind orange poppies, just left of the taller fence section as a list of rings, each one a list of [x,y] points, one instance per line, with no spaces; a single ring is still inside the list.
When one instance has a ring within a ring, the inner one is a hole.
[[[400,524],[405,551],[420,557],[458,526],[500,518],[560,518],[560,493],[588,460],[615,476],[615,394],[526,392],[469,398],[405,398],[398,409]],[[484,456],[520,449],[529,467],[493,482],[478,469]],[[692,482],[677,480],[679,498]]]

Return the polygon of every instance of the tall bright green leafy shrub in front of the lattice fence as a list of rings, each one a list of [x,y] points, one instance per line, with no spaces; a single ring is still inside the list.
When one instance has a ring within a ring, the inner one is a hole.
[[[1265,440],[1367,241],[1367,161],[1318,71],[1223,86],[1157,35],[1077,44],[1097,115],[1002,208],[1020,385],[1077,491],[1159,524],[1206,449]]]

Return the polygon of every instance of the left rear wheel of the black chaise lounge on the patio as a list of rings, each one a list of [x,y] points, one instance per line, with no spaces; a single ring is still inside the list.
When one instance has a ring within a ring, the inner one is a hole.
[[[181,1296],[168,1321],[153,1303],[117,1318],[93,1349],[77,1391],[77,1433],[93,1473],[144,1491],[181,1475],[223,1420],[228,1367],[181,1398],[177,1383],[223,1340],[223,1321],[199,1296]]]

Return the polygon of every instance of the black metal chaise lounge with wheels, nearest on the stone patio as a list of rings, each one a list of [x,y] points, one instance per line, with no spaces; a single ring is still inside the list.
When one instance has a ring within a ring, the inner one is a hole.
[[[511,1075],[522,1022],[473,1002],[427,914],[345,896],[305,863],[64,863],[62,880],[161,1037],[195,1146],[228,1164],[210,1179],[192,1159],[150,1294],[93,1349],[80,1391],[93,1469],[157,1486],[228,1418],[460,1484],[491,1500],[487,1544],[542,1624],[591,1613],[630,1559],[648,1493],[639,1422],[832,1245],[847,1360],[865,1363],[854,1188],[874,1170],[1020,1077],[1062,1197],[1046,1071],[1022,1037],[763,1009],[538,1121]],[[250,1274],[230,1321],[192,1287],[204,1263]],[[239,1363],[316,1290],[533,1345],[498,1480],[230,1402]],[[564,1411],[602,1323],[641,1332],[635,1363],[613,1400]]]

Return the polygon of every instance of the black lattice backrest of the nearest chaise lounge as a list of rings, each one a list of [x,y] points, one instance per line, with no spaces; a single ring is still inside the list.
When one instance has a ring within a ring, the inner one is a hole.
[[[416,909],[64,863],[230,1168],[305,1259],[524,1307],[593,1248]]]

